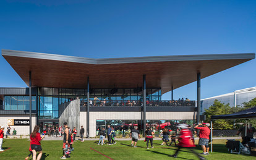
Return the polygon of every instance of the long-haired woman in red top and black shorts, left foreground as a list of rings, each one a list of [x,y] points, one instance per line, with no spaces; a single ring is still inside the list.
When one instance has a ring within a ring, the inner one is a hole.
[[[37,156],[37,160],[41,159],[41,156],[42,156],[41,140],[45,138],[45,135],[41,137],[38,131],[39,131],[39,127],[38,125],[36,125],[33,132],[30,135],[30,144],[31,144],[31,149],[33,153],[33,160],[36,160],[36,152],[39,153]]]

